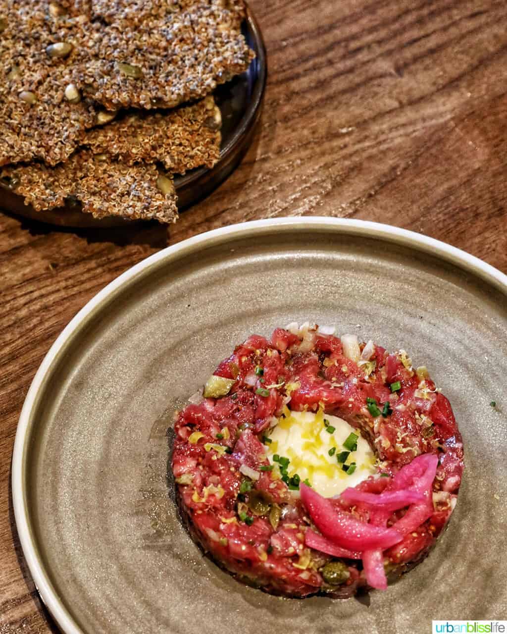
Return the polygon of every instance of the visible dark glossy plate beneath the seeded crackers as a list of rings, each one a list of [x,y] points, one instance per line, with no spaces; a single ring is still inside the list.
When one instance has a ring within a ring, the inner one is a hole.
[[[228,178],[240,163],[254,138],[264,101],[267,61],[266,47],[259,23],[248,7],[242,32],[248,46],[255,51],[256,57],[244,73],[218,86],[213,93],[222,113],[220,160],[212,169],[198,167],[184,176],[174,177],[179,211],[205,198]],[[63,209],[35,211],[31,205],[25,205],[23,198],[17,196],[1,181],[0,195],[3,210],[43,223],[65,227],[132,226],[132,221],[121,217],[96,219],[91,214],[80,212],[79,206],[70,204]]]

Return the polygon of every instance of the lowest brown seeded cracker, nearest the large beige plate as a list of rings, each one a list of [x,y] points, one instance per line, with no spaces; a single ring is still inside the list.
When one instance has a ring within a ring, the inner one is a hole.
[[[38,211],[61,207],[71,197],[82,202],[82,211],[97,218],[176,221],[176,192],[170,175],[161,176],[155,165],[125,165],[101,158],[80,150],[56,167],[35,163],[6,167],[3,177],[10,178],[25,204]]]

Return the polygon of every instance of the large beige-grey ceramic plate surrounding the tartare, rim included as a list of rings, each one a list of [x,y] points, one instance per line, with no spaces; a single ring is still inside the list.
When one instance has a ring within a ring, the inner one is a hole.
[[[212,231],[120,276],[49,351],[16,435],[16,524],[60,627],[427,634],[432,619],[504,618],[506,299],[506,276],[444,243],[316,217]],[[465,441],[449,529],[425,562],[361,602],[234,581],[189,538],[167,477],[172,413],[231,345],[307,319],[410,351]]]

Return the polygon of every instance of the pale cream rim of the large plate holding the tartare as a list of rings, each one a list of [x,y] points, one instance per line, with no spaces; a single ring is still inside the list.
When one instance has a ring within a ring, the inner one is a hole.
[[[499,269],[494,268],[491,264],[487,264],[487,262],[472,256],[472,254],[464,250],[453,247],[446,242],[436,240],[435,238],[421,235],[415,231],[402,229],[389,224],[328,216],[281,217],[255,220],[206,231],[205,233],[192,236],[176,245],[158,251],[141,262],[138,262],[138,264],[134,264],[134,266],[108,283],[108,285],[94,295],[94,297],[75,314],[74,318],[70,320],[60,335],[58,335],[55,342],[53,342],[48,353],[44,356],[44,359],[42,359],[42,363],[30,384],[18,419],[11,462],[11,493],[16,529],[23,550],[23,557],[25,557],[42,602],[48,608],[55,622],[66,634],[86,634],[86,632],[78,626],[72,614],[70,614],[65,606],[65,601],[58,597],[46,573],[45,567],[41,560],[39,560],[35,538],[30,529],[29,510],[25,491],[27,470],[25,469],[25,464],[27,463],[28,450],[27,432],[29,432],[30,425],[32,424],[34,404],[37,401],[39,392],[41,389],[44,389],[44,379],[47,373],[51,370],[53,363],[58,361],[59,353],[71,339],[74,332],[80,327],[80,324],[86,320],[91,313],[98,311],[103,302],[105,302],[110,295],[129,281],[134,280],[134,278],[141,275],[141,273],[145,273],[145,271],[152,266],[166,259],[170,261],[176,257],[181,257],[190,252],[200,250],[203,247],[214,245],[222,240],[269,233],[274,227],[279,228],[281,231],[301,230],[302,228],[304,228],[305,231],[322,231],[328,229],[337,235],[364,235],[369,238],[380,238],[404,247],[412,247],[419,252],[440,257],[444,261],[454,264],[454,266],[458,266],[461,269],[478,275],[507,296],[507,275],[499,271]]]

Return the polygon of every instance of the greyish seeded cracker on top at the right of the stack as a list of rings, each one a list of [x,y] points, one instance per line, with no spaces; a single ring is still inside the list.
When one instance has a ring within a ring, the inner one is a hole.
[[[128,15],[128,14],[127,14]],[[205,96],[248,67],[254,53],[238,11],[205,2],[129,23],[80,23],[72,80],[106,108],[174,107]]]

